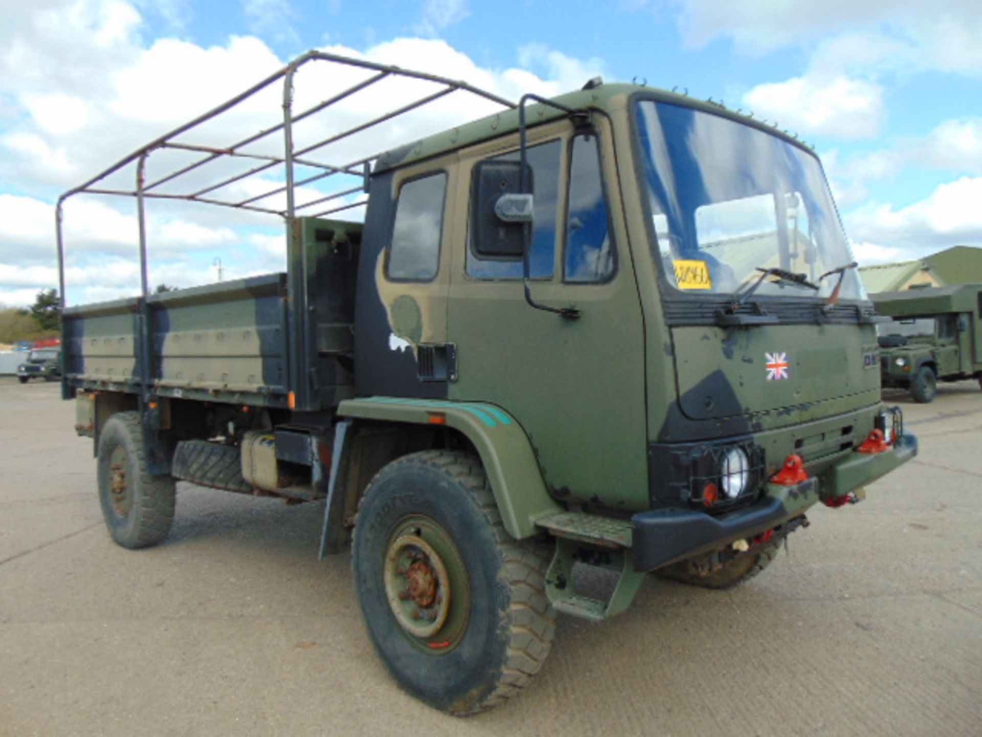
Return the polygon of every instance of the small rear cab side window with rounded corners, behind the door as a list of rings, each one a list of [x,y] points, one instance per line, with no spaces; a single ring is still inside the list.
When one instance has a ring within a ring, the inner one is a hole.
[[[396,203],[386,275],[397,281],[430,281],[440,268],[440,241],[447,175],[443,172],[403,185]]]

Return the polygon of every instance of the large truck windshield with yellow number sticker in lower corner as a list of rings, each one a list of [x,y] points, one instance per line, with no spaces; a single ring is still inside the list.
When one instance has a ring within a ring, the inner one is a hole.
[[[732,295],[757,269],[803,274],[818,291],[765,279],[755,295],[828,297],[852,255],[818,160],[777,136],[653,100],[636,107],[655,234],[651,255],[682,292]],[[854,269],[841,296],[865,295]]]

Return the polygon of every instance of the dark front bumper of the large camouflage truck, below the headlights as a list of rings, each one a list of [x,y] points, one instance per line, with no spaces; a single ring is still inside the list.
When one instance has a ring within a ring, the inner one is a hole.
[[[653,509],[631,518],[634,570],[656,568],[752,538],[803,514],[821,499],[839,499],[889,474],[917,455],[917,437],[903,435],[886,453],[853,452],[839,463],[793,486],[767,484],[751,507],[712,516],[691,509]]]

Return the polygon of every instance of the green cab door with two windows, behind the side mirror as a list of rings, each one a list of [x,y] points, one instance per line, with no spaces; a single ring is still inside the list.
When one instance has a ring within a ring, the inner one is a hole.
[[[522,261],[482,252],[475,178],[482,162],[518,161],[518,137],[465,149],[455,213],[448,336],[450,397],[513,415],[559,498],[647,506],[644,337],[607,120],[529,132],[534,214],[530,306]],[[629,499],[629,501],[625,501]]]

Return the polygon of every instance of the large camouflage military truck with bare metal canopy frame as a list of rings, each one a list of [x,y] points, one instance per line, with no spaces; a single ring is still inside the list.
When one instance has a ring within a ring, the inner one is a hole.
[[[321,64],[350,86],[295,109],[295,76]],[[386,81],[397,96],[357,122]],[[190,138],[278,83],[275,125]],[[345,147],[451,93],[494,109]],[[135,185],[107,183],[127,167]],[[650,572],[749,579],[810,507],[916,452],[880,401],[879,318],[817,157],[717,104],[600,80],[516,104],[310,52],[66,193],[62,262],[78,195],[135,197],[139,225],[142,294],[64,311],[64,397],[112,539],[165,539],[178,480],[319,501],[321,554],[353,538],[377,652],[438,709],[516,694],[556,612],[615,615]],[[150,201],[282,217],[286,271],[150,294]],[[613,572],[609,596],[583,588],[589,567]]]

